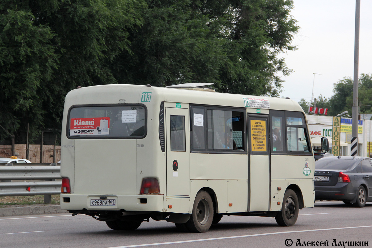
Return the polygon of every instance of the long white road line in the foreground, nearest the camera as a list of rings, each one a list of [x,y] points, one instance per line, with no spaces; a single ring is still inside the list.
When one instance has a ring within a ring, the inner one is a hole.
[[[116,246],[116,247],[108,247],[108,248],[129,248],[129,247],[144,247],[144,246],[151,246],[151,245],[170,245],[170,244],[201,242],[201,241],[210,241],[210,240],[219,240],[219,239],[247,238],[247,237],[264,236],[264,235],[272,235],[272,234],[284,234],[284,233],[296,233],[296,232],[315,232],[315,231],[328,231],[328,230],[339,230],[339,229],[350,229],[350,228],[366,228],[366,227],[372,227],[372,226],[350,226],[350,227],[311,229],[311,230],[301,230],[301,231],[270,232],[270,233],[258,233],[258,234],[241,235],[241,236],[229,236],[229,237],[221,237],[221,238],[195,239],[195,240],[185,240],[185,241],[142,244],[142,245],[125,245],[125,246]]]

